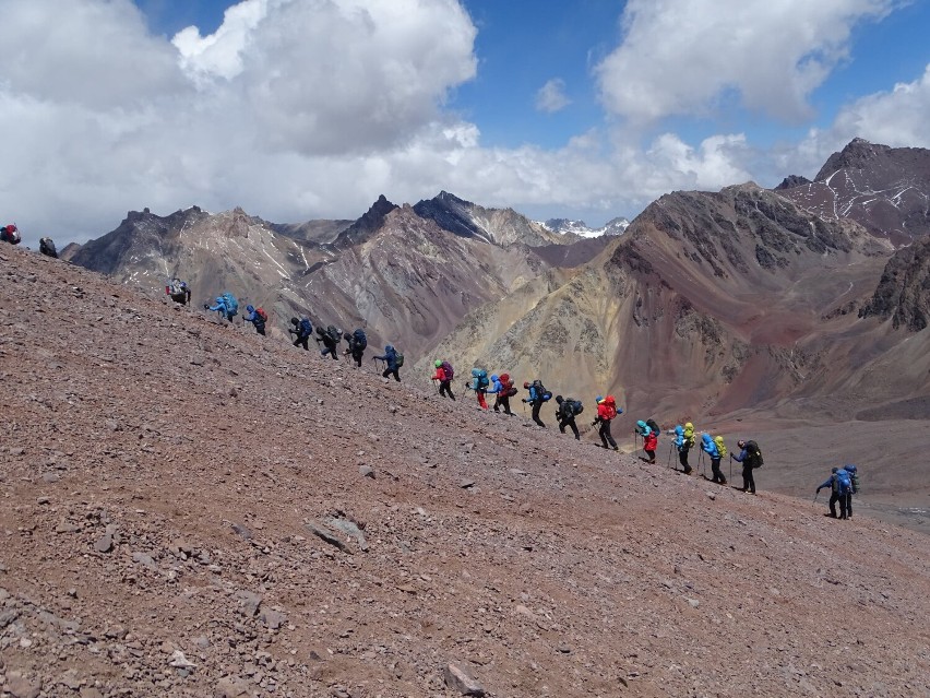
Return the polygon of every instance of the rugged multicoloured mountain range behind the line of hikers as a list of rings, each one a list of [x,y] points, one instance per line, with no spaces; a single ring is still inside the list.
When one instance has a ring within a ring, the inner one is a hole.
[[[68,255],[153,289],[180,275],[198,301],[230,289],[273,334],[363,327],[420,379],[448,358],[667,422],[927,416],[928,173],[926,150],[857,139],[813,181],[675,192],[594,238],[443,191],[290,226],[131,212]]]

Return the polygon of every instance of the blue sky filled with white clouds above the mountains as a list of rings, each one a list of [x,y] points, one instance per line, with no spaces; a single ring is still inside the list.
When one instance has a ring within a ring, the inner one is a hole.
[[[0,0],[0,216],[27,241],[144,206],[355,218],[441,189],[600,225],[811,177],[855,137],[930,146],[927,0]]]

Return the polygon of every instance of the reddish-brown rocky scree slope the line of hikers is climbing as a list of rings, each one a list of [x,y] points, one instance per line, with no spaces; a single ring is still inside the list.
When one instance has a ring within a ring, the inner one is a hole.
[[[776,462],[752,497],[26,250],[0,281],[2,698],[930,696],[930,539]]]

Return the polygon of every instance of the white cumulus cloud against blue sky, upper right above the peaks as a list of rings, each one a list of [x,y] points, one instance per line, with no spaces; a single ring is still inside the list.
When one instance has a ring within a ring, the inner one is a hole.
[[[623,40],[597,67],[607,109],[634,123],[705,115],[736,93],[792,122],[846,60],[853,27],[897,0],[629,0]]]

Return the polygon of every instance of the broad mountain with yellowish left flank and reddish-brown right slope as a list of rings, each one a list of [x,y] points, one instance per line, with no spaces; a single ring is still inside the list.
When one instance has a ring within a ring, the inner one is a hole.
[[[755,186],[677,192],[591,263],[473,312],[436,354],[588,400],[619,392],[671,424],[799,398],[849,418],[928,390],[927,336],[855,312],[886,253]]]

